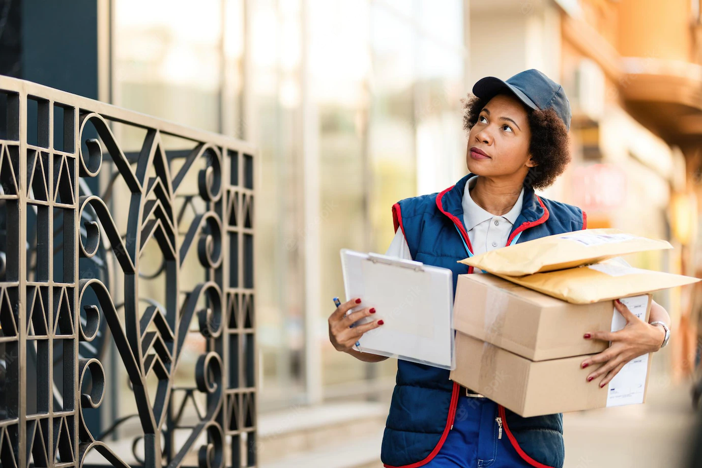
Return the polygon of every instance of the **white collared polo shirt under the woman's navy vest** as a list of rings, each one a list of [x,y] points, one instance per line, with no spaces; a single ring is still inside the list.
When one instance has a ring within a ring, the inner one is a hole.
[[[522,213],[522,201],[524,199],[524,187],[522,187],[522,192],[519,193],[517,202],[508,213],[504,215],[489,213],[470,197],[469,189],[475,186],[478,177],[479,175],[472,177],[466,182],[461,203],[463,205],[463,224],[468,231],[468,239],[470,239],[470,245],[475,255],[507,245],[512,226],[515,224],[519,213]],[[385,255],[413,260],[412,255],[409,253],[407,241],[404,239],[404,234],[402,234],[402,229],[397,229]],[[467,252],[465,256],[468,257]],[[475,272],[480,272],[480,270],[476,269]]]

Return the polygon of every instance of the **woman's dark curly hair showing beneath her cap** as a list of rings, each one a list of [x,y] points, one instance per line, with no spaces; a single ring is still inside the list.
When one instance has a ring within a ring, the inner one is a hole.
[[[478,115],[489,100],[468,94],[461,100],[463,103],[463,130],[470,133],[478,121]],[[568,141],[568,130],[553,109],[531,109],[524,106],[529,114],[531,142],[529,152],[531,159],[537,164],[529,168],[524,185],[532,189],[545,189],[555,182],[556,178],[565,171],[571,161]]]

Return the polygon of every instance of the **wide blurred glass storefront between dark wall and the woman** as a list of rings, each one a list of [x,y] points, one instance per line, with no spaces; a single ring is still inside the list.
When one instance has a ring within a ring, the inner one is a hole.
[[[326,319],[339,249],[384,253],[393,203],[463,175],[463,0],[179,3],[115,2],[114,100],[259,149],[260,408],[391,388]]]

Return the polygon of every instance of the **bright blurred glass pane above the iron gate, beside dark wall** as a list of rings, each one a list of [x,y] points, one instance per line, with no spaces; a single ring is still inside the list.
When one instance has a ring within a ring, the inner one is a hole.
[[[114,5],[114,100],[121,107],[220,131],[221,0]],[[138,11],[139,14],[135,14]],[[121,135],[140,147],[139,135]],[[134,146],[136,145],[136,148]]]

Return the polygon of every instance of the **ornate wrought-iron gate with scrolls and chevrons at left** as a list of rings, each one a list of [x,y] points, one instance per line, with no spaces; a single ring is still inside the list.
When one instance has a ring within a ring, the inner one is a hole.
[[[254,155],[0,76],[2,467],[256,466]]]

